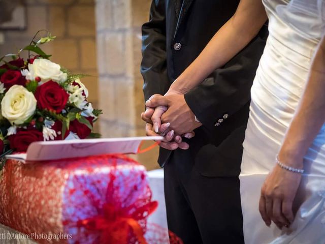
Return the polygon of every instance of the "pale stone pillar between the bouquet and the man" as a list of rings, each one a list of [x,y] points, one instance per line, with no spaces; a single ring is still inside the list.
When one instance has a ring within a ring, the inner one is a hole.
[[[151,0],[97,0],[96,31],[100,120],[105,137],[144,136],[143,79],[140,74],[141,25],[149,19]],[[151,143],[151,142],[150,142]],[[156,168],[157,149],[137,159]]]

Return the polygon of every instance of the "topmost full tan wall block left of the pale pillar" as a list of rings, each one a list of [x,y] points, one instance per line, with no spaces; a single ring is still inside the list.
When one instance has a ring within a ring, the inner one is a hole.
[[[94,6],[74,6],[69,8],[68,33],[74,37],[95,35]]]

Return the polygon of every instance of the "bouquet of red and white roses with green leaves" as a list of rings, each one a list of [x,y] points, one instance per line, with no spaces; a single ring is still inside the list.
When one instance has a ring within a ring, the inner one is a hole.
[[[101,110],[87,101],[80,81],[85,75],[49,60],[40,46],[55,39],[51,34],[34,39],[17,54],[0,58],[0,157],[25,151],[34,141],[99,137],[92,126]]]

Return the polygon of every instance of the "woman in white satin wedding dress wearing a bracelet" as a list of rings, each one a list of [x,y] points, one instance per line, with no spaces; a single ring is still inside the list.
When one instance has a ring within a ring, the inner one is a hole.
[[[261,1],[241,0],[165,96],[201,83],[247,44],[268,16],[270,34],[251,89],[243,144],[245,242],[325,243],[325,3]],[[151,102],[165,105],[161,98]]]

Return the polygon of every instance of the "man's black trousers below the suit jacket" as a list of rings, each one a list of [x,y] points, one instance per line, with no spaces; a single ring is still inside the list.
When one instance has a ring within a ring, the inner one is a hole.
[[[164,173],[168,228],[184,244],[244,243],[238,177],[205,177],[180,149]]]

